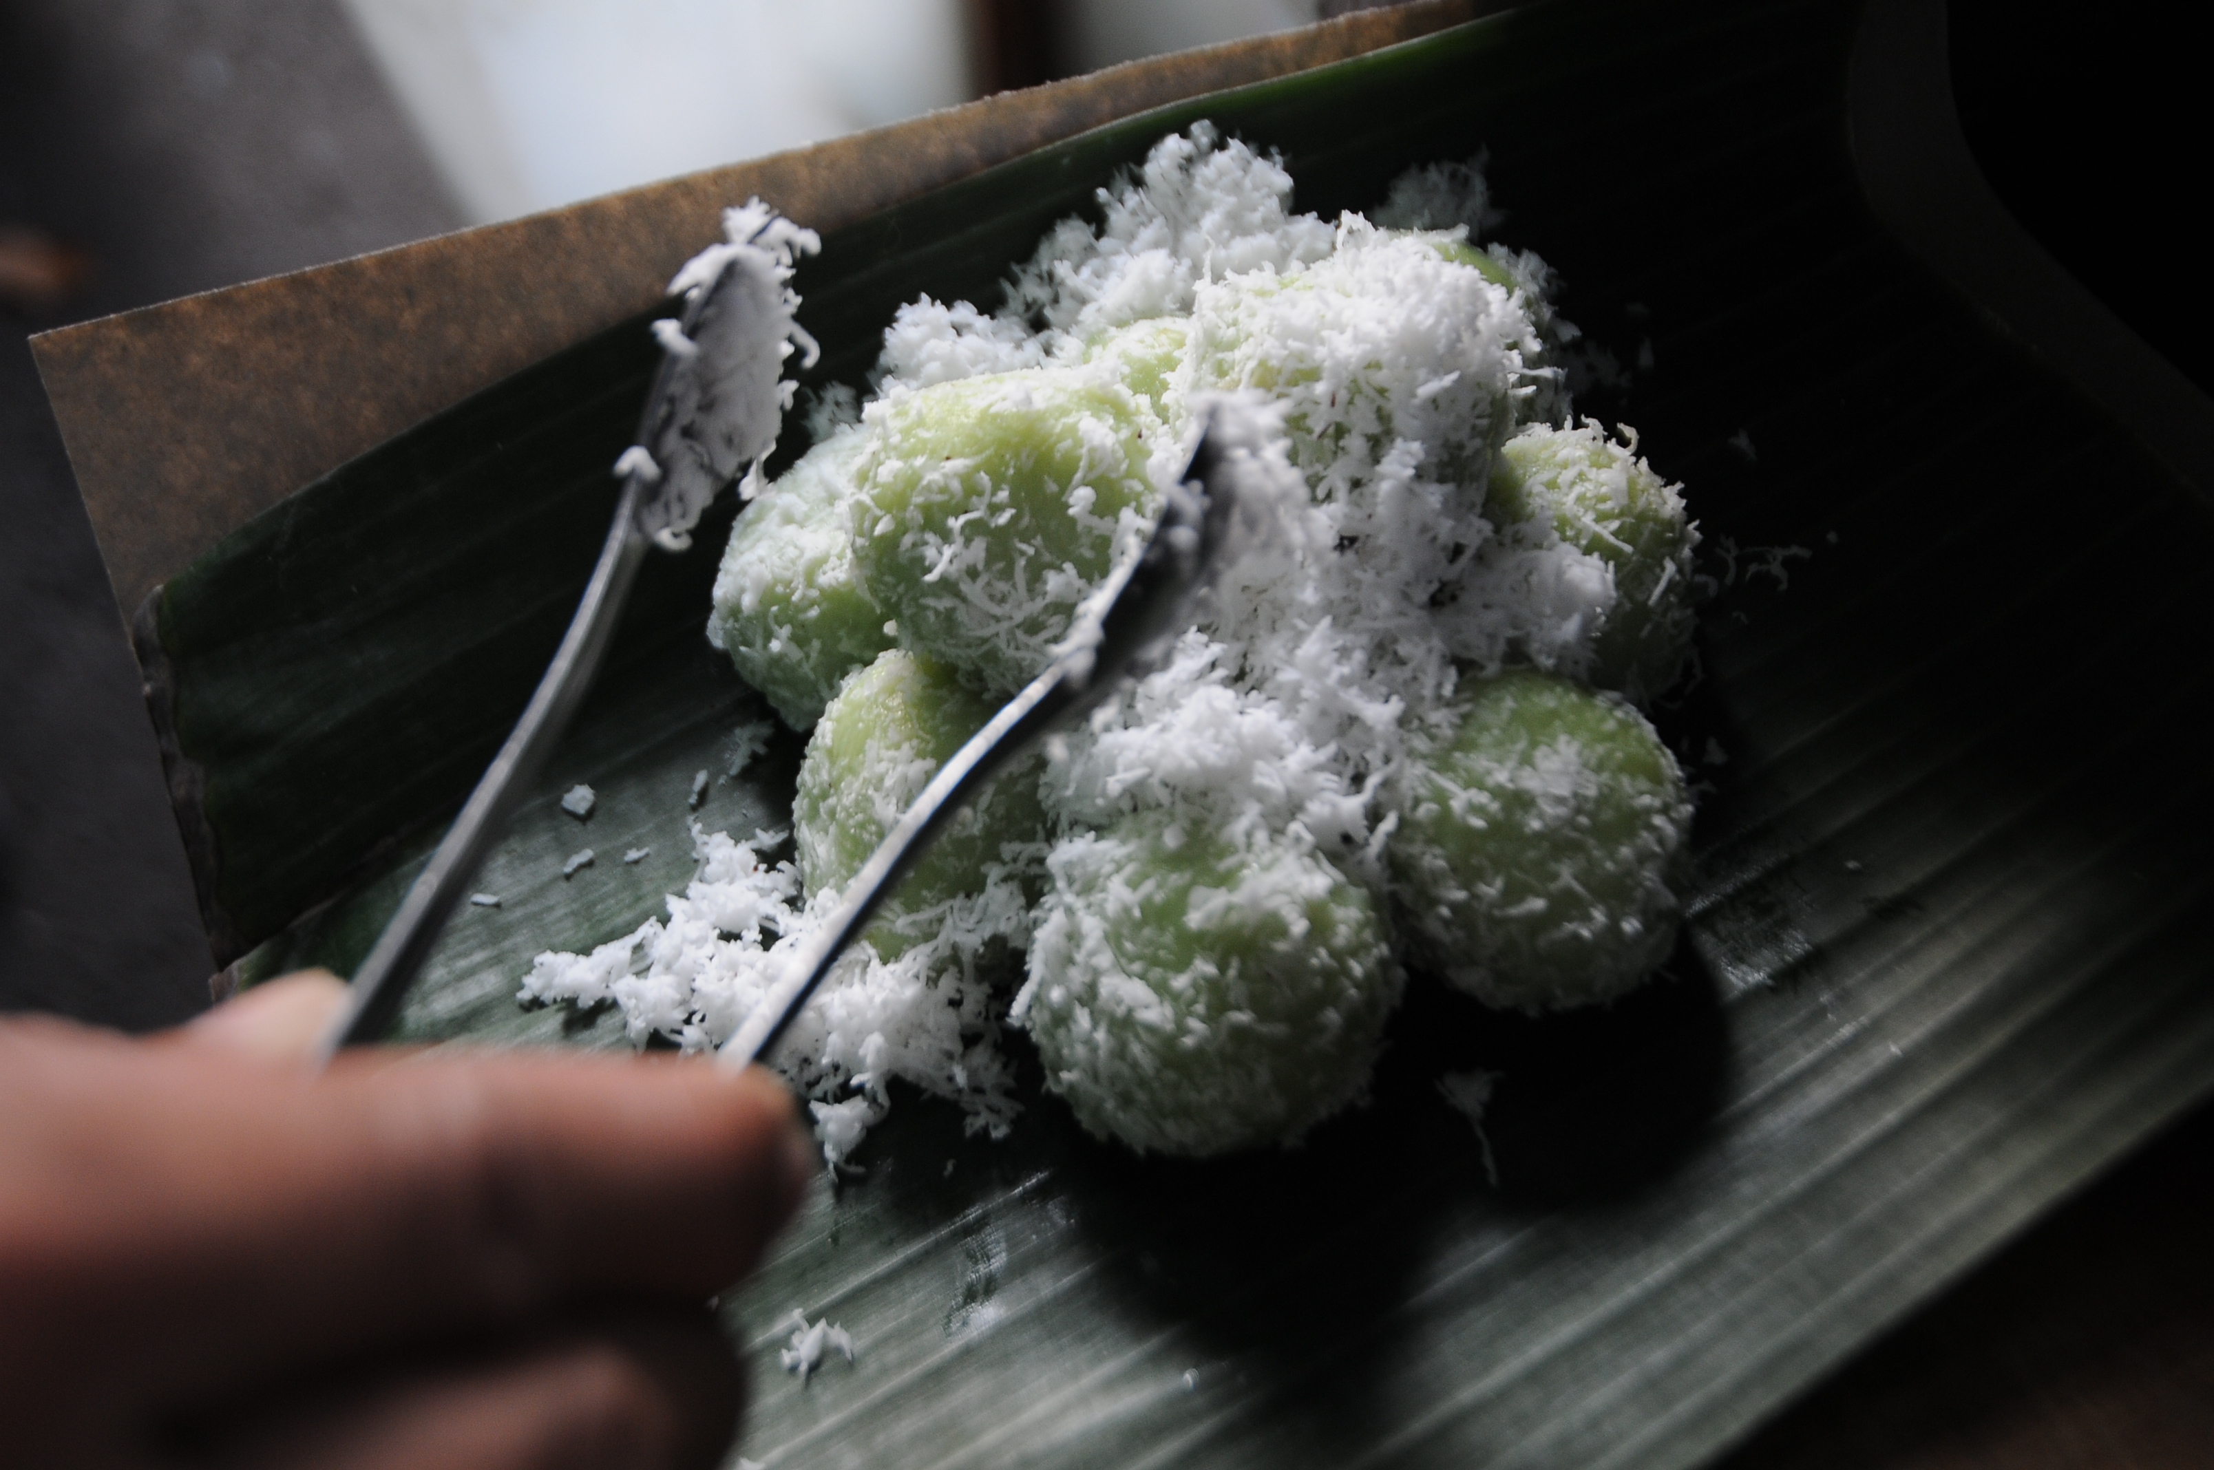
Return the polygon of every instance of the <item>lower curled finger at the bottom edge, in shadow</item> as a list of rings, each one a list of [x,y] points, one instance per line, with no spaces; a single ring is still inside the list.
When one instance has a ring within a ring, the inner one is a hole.
[[[217,1428],[195,1459],[224,1470],[708,1470],[739,1408],[737,1359],[695,1308],[297,1395]]]

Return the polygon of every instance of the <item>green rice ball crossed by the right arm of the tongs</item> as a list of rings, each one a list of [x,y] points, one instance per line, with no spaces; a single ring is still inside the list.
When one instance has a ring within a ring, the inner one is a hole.
[[[994,713],[941,664],[903,649],[848,677],[808,739],[793,797],[806,890],[852,881],[939,766]],[[983,892],[994,863],[1034,863],[1043,843],[1036,764],[1014,766],[950,821],[863,936],[883,959],[906,952],[928,936],[930,910]]]

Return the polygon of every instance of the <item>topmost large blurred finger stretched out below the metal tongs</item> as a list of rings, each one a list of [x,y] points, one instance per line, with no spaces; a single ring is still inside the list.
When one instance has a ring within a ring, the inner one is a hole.
[[[69,1027],[0,1029],[0,1315],[38,1324],[29,1370],[64,1397],[71,1362],[188,1399],[565,1302],[697,1300],[815,1158],[757,1069],[441,1052],[310,1078]]]

